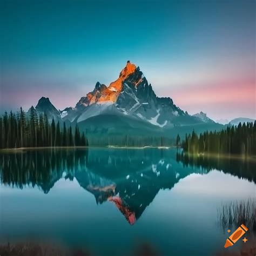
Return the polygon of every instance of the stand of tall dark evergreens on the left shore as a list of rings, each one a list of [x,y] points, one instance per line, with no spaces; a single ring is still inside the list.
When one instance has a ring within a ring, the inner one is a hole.
[[[74,144],[76,142],[76,144]],[[0,149],[16,147],[39,147],[39,146],[85,146],[87,137],[84,133],[80,135],[78,126],[76,126],[75,136],[72,128],[67,132],[66,124],[63,124],[63,131],[60,129],[60,123],[55,125],[52,119],[49,125],[46,114],[38,113],[33,108],[30,109],[28,116],[22,108],[17,114],[12,111],[0,116]]]

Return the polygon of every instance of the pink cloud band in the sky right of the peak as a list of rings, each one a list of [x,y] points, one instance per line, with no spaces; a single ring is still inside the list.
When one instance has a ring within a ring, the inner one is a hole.
[[[215,119],[256,116],[254,83],[180,86],[167,95],[182,109],[190,113],[204,111]]]

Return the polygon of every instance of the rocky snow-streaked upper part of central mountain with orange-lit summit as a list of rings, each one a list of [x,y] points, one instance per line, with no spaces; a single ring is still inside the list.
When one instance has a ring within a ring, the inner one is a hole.
[[[139,67],[127,62],[116,81],[107,87],[96,83],[95,89],[80,98],[75,110],[69,111],[65,119],[76,119],[77,123],[92,117],[113,114],[158,127],[172,127],[183,123],[180,117],[187,117],[190,123],[200,122],[173,104],[171,98],[158,98],[140,71]]]

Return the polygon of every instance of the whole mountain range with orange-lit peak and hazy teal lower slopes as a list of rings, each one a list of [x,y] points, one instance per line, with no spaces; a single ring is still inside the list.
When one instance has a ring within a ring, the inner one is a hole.
[[[49,119],[78,124],[80,130],[91,134],[159,134],[174,138],[177,133],[184,136],[192,130],[223,128],[203,112],[191,116],[171,98],[157,97],[143,72],[130,61],[117,80],[109,86],[97,82],[95,89],[81,97],[75,107],[57,110],[49,98],[42,97],[35,108]]]

